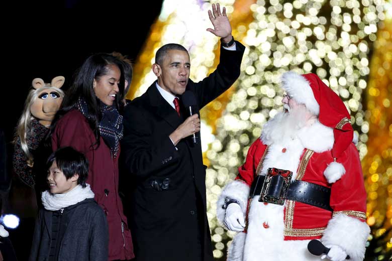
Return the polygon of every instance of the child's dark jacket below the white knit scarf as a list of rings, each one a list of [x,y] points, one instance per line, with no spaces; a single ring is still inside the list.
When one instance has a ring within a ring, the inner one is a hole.
[[[41,209],[36,222],[30,261],[49,260],[53,211]],[[64,209],[61,225],[66,226],[58,260],[108,260],[109,232],[106,216],[93,199]]]

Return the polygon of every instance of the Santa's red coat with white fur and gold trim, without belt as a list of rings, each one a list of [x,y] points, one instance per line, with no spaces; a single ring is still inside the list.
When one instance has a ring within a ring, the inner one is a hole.
[[[249,148],[236,180],[224,188],[218,199],[219,221],[225,218],[222,205],[226,197],[240,202],[247,219],[246,231],[234,238],[228,260],[320,259],[307,250],[310,239],[339,245],[351,259],[362,260],[369,227],[365,222],[366,193],[355,145],[351,144],[334,162],[332,128],[317,121],[303,127],[295,137],[282,140],[273,133],[279,129],[274,123],[272,119],[264,125],[262,136]],[[291,200],[279,206],[259,202],[259,196],[249,199],[255,176],[265,175],[271,167],[292,171],[292,179],[331,188],[333,212]]]

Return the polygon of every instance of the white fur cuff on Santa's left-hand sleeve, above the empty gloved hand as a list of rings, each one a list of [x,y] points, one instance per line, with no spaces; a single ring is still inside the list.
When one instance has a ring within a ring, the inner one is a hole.
[[[225,204],[225,198],[229,197],[231,199],[238,200],[240,202],[241,210],[245,216],[246,208],[248,206],[249,192],[250,187],[239,180],[230,182],[225,186],[217,201],[217,219],[221,225],[223,224],[226,216],[226,209],[222,208],[222,205]]]

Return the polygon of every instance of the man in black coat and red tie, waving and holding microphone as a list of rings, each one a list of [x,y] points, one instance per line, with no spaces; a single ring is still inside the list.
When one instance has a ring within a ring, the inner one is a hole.
[[[197,111],[238,78],[245,47],[235,42],[225,8],[213,4],[209,17],[221,37],[220,63],[203,81],[189,79],[189,55],[177,44],[161,47],[152,70],[157,76],[124,114],[122,154],[128,175],[136,180],[132,199],[132,235],[137,261],[213,260],[207,219],[206,166],[198,114],[189,116],[181,94],[191,91]]]

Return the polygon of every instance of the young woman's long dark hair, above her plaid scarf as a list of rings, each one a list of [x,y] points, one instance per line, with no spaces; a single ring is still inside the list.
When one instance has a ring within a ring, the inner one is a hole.
[[[53,134],[57,121],[68,111],[75,109],[79,97],[87,103],[87,120],[96,139],[96,145],[100,145],[99,122],[101,120],[100,100],[96,97],[93,82],[109,73],[108,65],[117,65],[121,72],[119,92],[116,95],[114,105],[122,114],[124,104],[124,69],[122,62],[110,54],[99,53],[88,57],[76,73],[71,87],[67,90],[60,109],[57,111],[50,126],[50,135]]]

